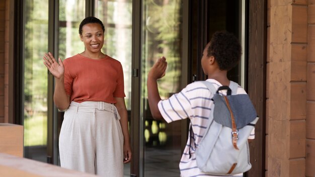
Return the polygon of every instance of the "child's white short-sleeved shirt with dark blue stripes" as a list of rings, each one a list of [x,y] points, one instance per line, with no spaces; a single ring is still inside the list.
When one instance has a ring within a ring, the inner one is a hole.
[[[207,81],[211,82],[216,88],[222,86],[220,82],[214,79],[207,79]],[[226,95],[226,91],[220,91],[220,94]],[[237,94],[247,93],[239,86]],[[193,82],[188,84],[180,93],[174,94],[167,100],[160,101],[158,106],[163,118],[168,123],[186,118],[190,119],[190,124],[192,125],[194,132],[194,137],[192,138],[194,138],[196,147],[198,147],[200,140],[205,134],[206,125],[208,125],[208,121],[211,121],[209,120],[209,115],[212,111],[210,109],[213,104],[213,101],[211,100],[212,97],[213,94],[211,94],[203,83]],[[189,132],[188,137],[190,136]],[[252,131],[249,139],[254,138],[255,129]],[[179,164],[181,176],[213,176],[202,172],[197,167],[194,147],[194,145],[191,146],[190,138],[188,138]],[[189,158],[189,149],[191,158]],[[232,176],[243,176],[243,173]]]

